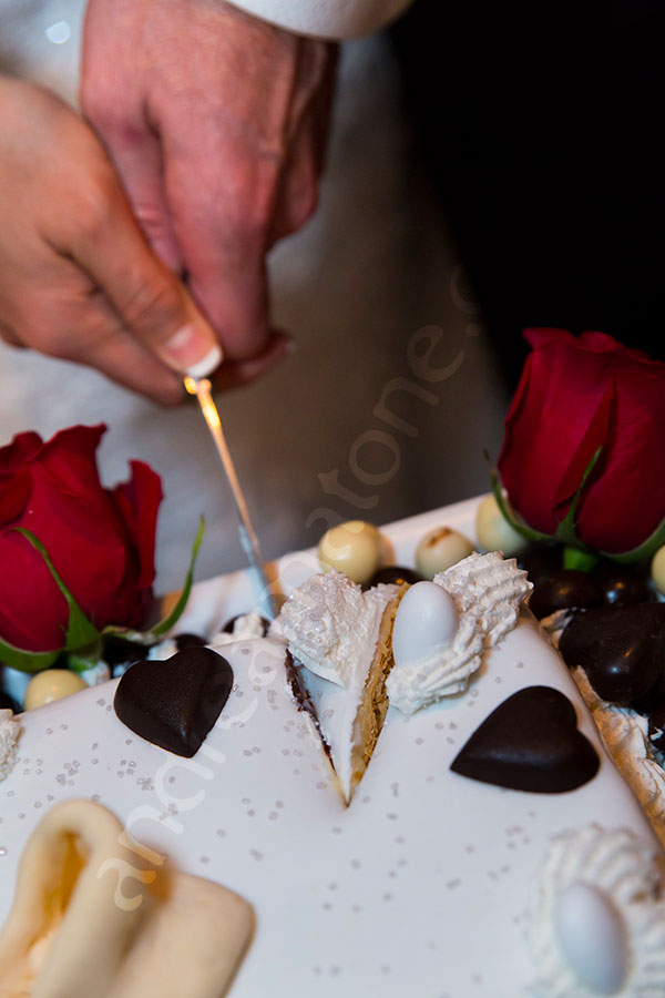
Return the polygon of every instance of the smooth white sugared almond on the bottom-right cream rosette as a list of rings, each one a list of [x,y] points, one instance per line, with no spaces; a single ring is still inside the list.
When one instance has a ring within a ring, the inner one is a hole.
[[[559,943],[579,981],[594,995],[617,995],[628,976],[627,927],[612,898],[576,880],[556,898]]]

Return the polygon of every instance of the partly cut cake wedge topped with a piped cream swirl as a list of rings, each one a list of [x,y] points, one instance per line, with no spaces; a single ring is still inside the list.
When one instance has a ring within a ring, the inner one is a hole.
[[[388,711],[390,635],[398,585],[368,592],[337,571],[313,576],[274,625],[296,662],[295,681],[310,697],[339,788],[350,803]]]

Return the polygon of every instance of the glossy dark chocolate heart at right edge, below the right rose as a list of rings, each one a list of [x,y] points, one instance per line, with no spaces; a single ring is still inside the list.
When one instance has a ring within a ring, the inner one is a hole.
[[[566,664],[581,665],[598,696],[628,703],[645,696],[665,669],[665,603],[598,607],[561,635]]]

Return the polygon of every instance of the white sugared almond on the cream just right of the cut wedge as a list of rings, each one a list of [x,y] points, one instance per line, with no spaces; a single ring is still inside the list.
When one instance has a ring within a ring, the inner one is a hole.
[[[449,646],[459,627],[454,600],[442,585],[416,582],[403,594],[392,629],[396,668],[411,665]]]

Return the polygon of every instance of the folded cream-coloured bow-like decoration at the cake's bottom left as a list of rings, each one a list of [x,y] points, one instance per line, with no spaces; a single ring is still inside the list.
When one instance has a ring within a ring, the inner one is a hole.
[[[0,936],[0,998],[226,992],[252,938],[250,905],[168,866],[145,869],[127,845],[116,818],[88,801],[43,818]]]

